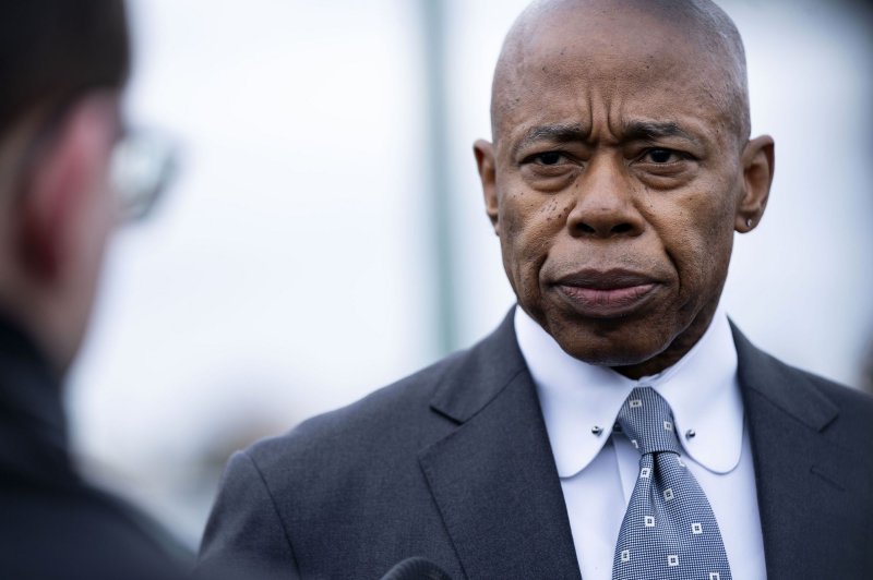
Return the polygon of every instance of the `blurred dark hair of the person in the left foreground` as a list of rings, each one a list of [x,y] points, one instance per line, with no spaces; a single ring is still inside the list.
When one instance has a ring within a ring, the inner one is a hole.
[[[123,0],[12,0],[0,9],[0,136],[92,89],[121,88],[130,69]]]

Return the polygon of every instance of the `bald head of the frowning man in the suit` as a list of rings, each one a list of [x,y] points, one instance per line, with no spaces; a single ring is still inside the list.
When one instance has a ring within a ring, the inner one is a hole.
[[[518,304],[572,357],[638,378],[708,328],[773,177],[744,60],[708,0],[542,0],[510,32],[474,153]]]

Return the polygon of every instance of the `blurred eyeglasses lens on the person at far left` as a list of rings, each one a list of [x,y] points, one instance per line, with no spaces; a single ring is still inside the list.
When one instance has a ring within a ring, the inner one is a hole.
[[[124,222],[146,218],[179,169],[178,147],[168,136],[145,130],[125,132],[116,143],[109,180]]]

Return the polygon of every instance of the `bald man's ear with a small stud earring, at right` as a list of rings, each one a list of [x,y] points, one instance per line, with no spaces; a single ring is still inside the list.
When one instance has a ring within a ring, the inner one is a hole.
[[[743,150],[743,193],[737,204],[734,229],[745,233],[764,216],[774,171],[774,143],[769,135],[751,140]]]

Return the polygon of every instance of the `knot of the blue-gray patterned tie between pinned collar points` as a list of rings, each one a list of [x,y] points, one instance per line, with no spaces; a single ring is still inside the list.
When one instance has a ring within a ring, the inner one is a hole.
[[[631,391],[619,411],[618,422],[643,455],[680,452],[670,406],[651,387],[637,387]]]

